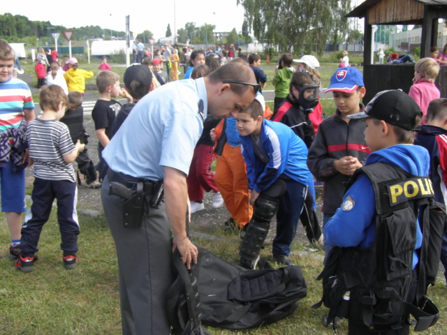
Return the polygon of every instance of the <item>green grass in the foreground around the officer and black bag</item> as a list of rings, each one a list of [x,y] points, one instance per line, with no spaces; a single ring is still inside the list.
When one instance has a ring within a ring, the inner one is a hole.
[[[4,218],[0,219],[0,238],[4,246],[0,255],[0,334],[121,334],[117,259],[110,231],[105,227],[103,216],[80,215],[80,226],[80,262],[76,269],[67,271],[62,264],[59,228],[53,210],[39,242],[40,258],[34,264],[34,271],[24,274],[17,271],[7,257],[9,232]],[[193,223],[191,227],[197,231]],[[239,237],[228,236],[221,230],[215,234],[229,240],[196,239],[196,243],[230,262],[237,262]],[[293,251],[305,249],[301,244],[294,244]],[[268,261],[272,261],[271,254],[271,246],[261,251]],[[321,282],[315,278],[322,265],[321,258],[315,255],[322,256],[323,251],[292,256],[295,264],[303,269],[308,295],[291,317],[258,329],[229,331],[210,327],[210,332],[217,335],[332,334],[332,329],[321,324],[326,308],[311,308],[321,299]],[[447,334],[446,287],[439,283],[430,289],[429,296],[439,306],[441,319],[423,334]],[[338,334],[346,334],[346,329],[345,321]]]

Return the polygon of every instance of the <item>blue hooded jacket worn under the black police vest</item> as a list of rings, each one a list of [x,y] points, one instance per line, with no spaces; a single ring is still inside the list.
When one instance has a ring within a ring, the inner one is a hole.
[[[386,149],[374,151],[366,159],[365,165],[386,162],[399,166],[416,176],[427,177],[430,168],[428,152],[423,147],[411,144],[397,144]],[[353,203],[351,209],[343,209],[346,198]],[[354,184],[346,191],[342,206],[324,228],[324,240],[330,246],[350,247],[371,246],[376,237],[376,205],[371,181],[360,174]],[[416,249],[422,245],[422,232],[419,223],[416,230]],[[413,269],[418,264],[418,256],[413,252]]]

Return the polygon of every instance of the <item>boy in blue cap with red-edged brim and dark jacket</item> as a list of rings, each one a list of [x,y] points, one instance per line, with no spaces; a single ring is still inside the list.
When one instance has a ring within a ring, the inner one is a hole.
[[[323,231],[342,204],[344,184],[365,165],[371,152],[365,142],[365,122],[348,118],[365,110],[365,105],[360,103],[366,93],[360,71],[352,67],[339,68],[330,78],[326,92],[329,91],[332,91],[337,110],[318,126],[307,156],[310,172],[324,182]],[[327,256],[330,246],[325,244],[324,248]]]

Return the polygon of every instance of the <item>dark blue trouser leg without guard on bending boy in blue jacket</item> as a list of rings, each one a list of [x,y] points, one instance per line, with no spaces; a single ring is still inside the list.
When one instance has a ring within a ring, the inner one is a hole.
[[[298,228],[298,220],[305,204],[307,186],[293,179],[283,179],[287,191],[279,198],[277,236],[273,240],[273,256],[288,256]]]

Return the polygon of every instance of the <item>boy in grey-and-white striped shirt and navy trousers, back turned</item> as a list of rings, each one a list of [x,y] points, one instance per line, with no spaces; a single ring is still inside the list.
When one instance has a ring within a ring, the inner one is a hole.
[[[22,272],[33,271],[41,230],[48,221],[54,198],[57,199],[57,220],[65,268],[73,269],[78,260],[78,192],[71,163],[85,149],[85,144],[78,140],[73,145],[68,127],[59,121],[64,117],[68,104],[61,87],[51,85],[42,89],[40,98],[43,114],[40,119],[30,121],[27,128],[29,158],[34,163],[35,179],[31,208],[22,226],[22,254],[15,262],[15,267]]]

